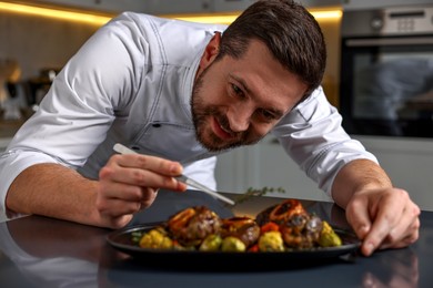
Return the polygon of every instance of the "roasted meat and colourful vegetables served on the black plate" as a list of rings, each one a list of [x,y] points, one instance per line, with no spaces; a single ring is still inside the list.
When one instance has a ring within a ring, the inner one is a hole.
[[[189,207],[164,223],[131,230],[130,237],[145,250],[203,253],[286,253],[344,245],[328,222],[296,199],[283,200],[255,218],[221,218],[205,206]]]

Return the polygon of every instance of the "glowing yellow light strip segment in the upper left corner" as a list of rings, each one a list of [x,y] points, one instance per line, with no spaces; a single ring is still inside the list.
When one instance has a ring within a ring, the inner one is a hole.
[[[90,13],[72,12],[72,11],[16,4],[16,3],[6,3],[6,2],[0,2],[0,10],[23,13],[23,14],[56,18],[56,19],[62,19],[69,21],[87,22],[97,25],[102,25],[111,19],[110,17],[103,17],[103,16],[97,16]]]

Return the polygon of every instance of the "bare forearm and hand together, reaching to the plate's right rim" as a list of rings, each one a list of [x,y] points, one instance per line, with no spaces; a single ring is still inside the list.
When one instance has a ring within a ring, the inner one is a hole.
[[[420,208],[407,192],[394,188],[374,162],[355,160],[334,179],[332,197],[345,209],[348,222],[363,240],[361,250],[401,248],[419,238]]]

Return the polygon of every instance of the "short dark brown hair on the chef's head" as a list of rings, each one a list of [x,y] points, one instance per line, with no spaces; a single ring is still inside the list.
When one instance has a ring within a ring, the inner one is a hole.
[[[314,17],[291,0],[260,0],[243,11],[223,32],[221,59],[239,59],[250,40],[266,44],[274,58],[308,85],[304,96],[316,89],[326,65],[326,47]]]

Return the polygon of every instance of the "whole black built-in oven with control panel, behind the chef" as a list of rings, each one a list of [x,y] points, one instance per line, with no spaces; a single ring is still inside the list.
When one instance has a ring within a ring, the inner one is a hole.
[[[433,4],[344,11],[341,29],[344,128],[433,137]]]

